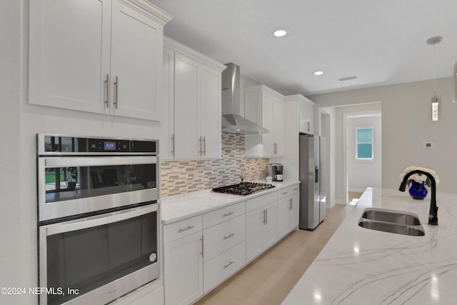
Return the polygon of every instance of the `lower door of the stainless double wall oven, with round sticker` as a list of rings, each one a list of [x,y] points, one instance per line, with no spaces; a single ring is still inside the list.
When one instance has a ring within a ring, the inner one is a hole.
[[[106,304],[160,276],[157,204],[39,228],[40,304]]]

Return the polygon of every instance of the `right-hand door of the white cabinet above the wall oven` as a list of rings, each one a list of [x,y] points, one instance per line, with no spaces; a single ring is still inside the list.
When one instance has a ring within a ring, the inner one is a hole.
[[[163,26],[139,10],[113,1],[112,114],[160,121]]]

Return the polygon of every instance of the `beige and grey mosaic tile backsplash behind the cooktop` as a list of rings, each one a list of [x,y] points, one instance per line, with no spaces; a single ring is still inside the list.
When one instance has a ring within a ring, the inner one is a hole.
[[[245,158],[244,136],[222,134],[222,158],[217,160],[187,160],[161,162],[161,196],[185,194],[202,189],[268,176],[269,159]]]

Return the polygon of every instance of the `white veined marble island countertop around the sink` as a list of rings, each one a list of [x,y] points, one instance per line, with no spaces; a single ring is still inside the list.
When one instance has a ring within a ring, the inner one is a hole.
[[[428,225],[430,196],[367,189],[283,304],[456,304],[457,194],[436,195],[438,226]],[[426,235],[362,228],[368,207],[415,213]]]

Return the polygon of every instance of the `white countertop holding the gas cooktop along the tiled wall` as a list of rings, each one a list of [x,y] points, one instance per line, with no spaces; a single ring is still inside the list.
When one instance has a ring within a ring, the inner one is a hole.
[[[253,181],[262,182],[265,181]],[[293,184],[298,184],[299,181],[284,181],[284,182],[272,182],[276,187],[267,189],[266,191],[259,191],[254,194],[247,196],[231,195],[214,193],[211,189],[205,189],[203,191],[193,191],[187,194],[175,195],[165,197],[161,201],[161,220],[162,224],[171,224],[175,221],[196,216],[199,214],[213,211],[215,209],[221,209],[224,206],[236,204],[237,202],[245,201],[248,199],[262,196],[264,194],[278,191]]]

